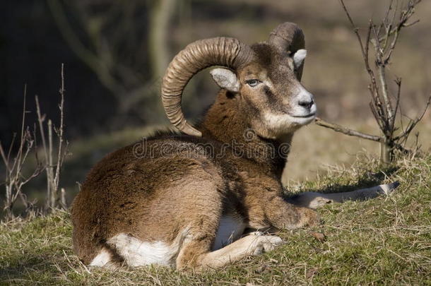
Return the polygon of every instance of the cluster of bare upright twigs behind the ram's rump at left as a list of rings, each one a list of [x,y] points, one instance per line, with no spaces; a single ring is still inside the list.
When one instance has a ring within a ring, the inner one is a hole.
[[[68,153],[68,143],[64,140],[64,65],[61,64],[61,87],[60,93],[60,123],[58,127],[52,124],[51,119],[47,120],[45,124],[46,116],[40,111],[39,99],[36,96],[36,108],[37,108],[37,123],[40,131],[40,138],[42,141],[42,153],[45,156],[45,160],[40,160],[38,157],[38,147],[36,144],[37,139],[37,128],[30,131],[30,127],[25,125],[25,114],[28,113],[26,110],[26,88],[24,89],[24,103],[23,103],[23,117],[21,121],[21,131],[19,137],[18,150],[14,150],[16,145],[16,134],[13,135],[11,145],[7,150],[4,149],[0,142],[0,155],[3,160],[5,167],[4,174],[4,211],[6,212],[6,219],[14,218],[14,205],[18,198],[25,206],[25,213],[29,213],[30,210],[35,210],[35,203],[28,201],[25,193],[23,192],[23,186],[28,184],[35,177],[38,177],[44,170],[47,174],[47,196],[45,200],[45,211],[52,210],[54,208],[66,208],[65,190],[59,188],[59,179],[61,174],[61,166],[63,165],[64,158]],[[46,126],[45,126],[46,125]],[[47,129],[47,133],[45,133]],[[54,132],[53,132],[54,130]],[[54,133],[57,135],[57,145],[54,146]],[[55,155],[57,152],[57,155]],[[31,165],[28,157],[30,155],[35,156],[35,167],[29,176],[25,176],[25,169],[28,170]],[[55,163],[54,163],[55,162]]]

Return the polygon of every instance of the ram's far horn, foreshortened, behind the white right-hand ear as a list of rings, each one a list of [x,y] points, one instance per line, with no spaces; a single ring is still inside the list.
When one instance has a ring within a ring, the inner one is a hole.
[[[292,55],[298,49],[305,48],[305,38],[302,30],[295,24],[285,22],[275,28],[268,38],[268,43],[276,47],[280,52],[286,55]],[[297,78],[301,80],[302,68],[304,64],[297,68]]]

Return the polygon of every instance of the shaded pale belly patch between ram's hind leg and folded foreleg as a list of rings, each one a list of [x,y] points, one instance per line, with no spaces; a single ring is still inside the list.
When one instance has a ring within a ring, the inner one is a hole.
[[[223,215],[220,219],[220,225],[218,226],[212,250],[221,249],[222,247],[235,242],[235,240],[241,237],[244,230],[244,222],[237,220],[230,215]]]

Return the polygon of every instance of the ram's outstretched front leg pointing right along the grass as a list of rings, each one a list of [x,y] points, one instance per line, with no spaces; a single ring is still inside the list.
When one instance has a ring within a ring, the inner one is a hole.
[[[381,195],[389,195],[396,187],[399,186],[398,181],[391,184],[373,186],[368,189],[360,189],[356,191],[346,191],[344,193],[317,193],[308,191],[300,193],[297,196],[289,198],[288,201],[294,205],[305,206],[307,208],[319,208],[326,203],[343,203],[345,201],[366,201],[370,198],[375,198]]]

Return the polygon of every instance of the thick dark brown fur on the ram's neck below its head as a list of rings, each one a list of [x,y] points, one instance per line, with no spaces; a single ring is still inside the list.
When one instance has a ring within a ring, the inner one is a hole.
[[[203,138],[225,143],[235,150],[235,155],[247,157],[268,172],[281,176],[288,155],[288,145],[292,135],[285,136],[284,142],[261,138],[248,124],[252,116],[240,105],[238,95],[220,90],[214,104],[208,109],[199,129]],[[286,142],[288,141],[288,142]]]

